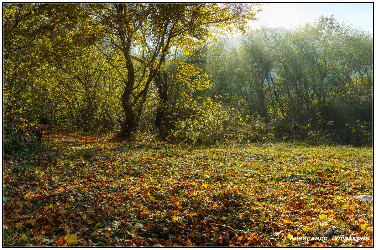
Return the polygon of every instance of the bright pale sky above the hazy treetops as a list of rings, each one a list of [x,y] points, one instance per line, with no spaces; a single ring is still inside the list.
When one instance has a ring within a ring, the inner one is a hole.
[[[268,3],[256,15],[259,21],[250,22],[250,26],[289,29],[332,14],[340,22],[373,33],[373,3]]]

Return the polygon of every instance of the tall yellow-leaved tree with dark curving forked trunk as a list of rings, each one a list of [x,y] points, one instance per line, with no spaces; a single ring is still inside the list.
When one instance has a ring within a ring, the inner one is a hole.
[[[112,48],[121,52],[127,75],[122,107],[123,133],[135,132],[150,82],[165,63],[171,44],[192,46],[213,33],[244,30],[255,18],[251,4],[91,4]],[[220,30],[222,29],[222,30]],[[133,53],[132,53],[133,52]],[[109,63],[120,73],[111,57]],[[136,78],[138,74],[138,78]]]

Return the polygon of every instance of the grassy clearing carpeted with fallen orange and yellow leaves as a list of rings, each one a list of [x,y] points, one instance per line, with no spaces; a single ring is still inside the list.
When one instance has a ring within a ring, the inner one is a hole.
[[[4,246],[373,246],[371,148],[50,139],[4,159]],[[370,238],[290,240],[329,228]]]

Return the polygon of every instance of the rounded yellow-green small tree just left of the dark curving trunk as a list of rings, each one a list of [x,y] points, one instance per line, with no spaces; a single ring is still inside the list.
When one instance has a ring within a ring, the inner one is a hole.
[[[70,51],[70,57],[46,69],[35,87],[38,96],[30,97],[37,105],[27,105],[35,109],[35,118],[84,132],[114,127],[121,90],[116,72],[105,60],[95,46],[87,46]]]

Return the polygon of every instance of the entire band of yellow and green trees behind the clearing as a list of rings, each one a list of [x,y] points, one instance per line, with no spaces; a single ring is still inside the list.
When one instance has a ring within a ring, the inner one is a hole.
[[[370,144],[371,34],[334,16],[247,31],[258,6],[5,4],[4,128]]]

